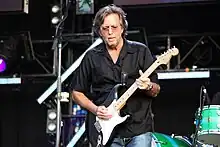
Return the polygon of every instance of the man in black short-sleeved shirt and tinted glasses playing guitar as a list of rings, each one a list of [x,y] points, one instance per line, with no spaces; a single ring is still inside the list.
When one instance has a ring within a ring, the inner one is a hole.
[[[157,74],[138,79],[153,63],[150,50],[142,43],[125,39],[127,21],[124,11],[109,5],[101,8],[94,19],[94,30],[103,39],[98,47],[86,53],[72,81],[73,100],[101,119],[110,119],[102,105],[116,84],[138,89],[127,100],[121,114],[129,114],[115,129],[107,146],[150,146],[152,131],[151,101],[160,91]],[[138,80],[137,80],[138,79]]]

